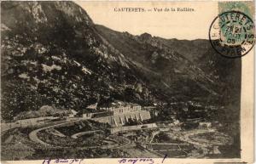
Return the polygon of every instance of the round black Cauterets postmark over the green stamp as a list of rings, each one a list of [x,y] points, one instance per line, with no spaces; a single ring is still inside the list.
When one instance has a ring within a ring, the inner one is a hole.
[[[239,11],[219,14],[212,21],[209,39],[212,48],[224,57],[244,56],[255,43],[253,20]]]

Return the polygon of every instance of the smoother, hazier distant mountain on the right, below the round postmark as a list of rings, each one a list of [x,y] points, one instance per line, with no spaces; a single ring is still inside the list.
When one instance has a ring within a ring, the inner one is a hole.
[[[204,39],[166,39],[148,33],[134,36],[103,25],[96,25],[96,29],[150,82],[157,79],[159,86],[166,86],[162,90],[168,95],[180,101],[222,106],[213,120],[224,122],[227,131],[239,136],[241,59],[224,58]]]

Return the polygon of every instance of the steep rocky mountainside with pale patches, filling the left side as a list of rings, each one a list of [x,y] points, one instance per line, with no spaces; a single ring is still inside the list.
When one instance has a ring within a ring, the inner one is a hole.
[[[3,118],[43,105],[79,110],[99,99],[155,99],[76,3],[3,2],[1,8]]]

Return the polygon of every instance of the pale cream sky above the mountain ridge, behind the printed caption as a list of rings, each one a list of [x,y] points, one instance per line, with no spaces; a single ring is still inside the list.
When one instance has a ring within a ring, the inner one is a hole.
[[[218,15],[218,2],[83,2],[77,1],[95,24],[133,35],[148,32],[155,37],[208,39],[209,27]],[[146,12],[116,12],[119,8],[144,8]],[[175,12],[154,12],[154,8],[175,8]],[[177,12],[193,8],[194,12]],[[152,9],[152,11],[148,11]]]

